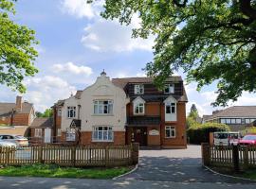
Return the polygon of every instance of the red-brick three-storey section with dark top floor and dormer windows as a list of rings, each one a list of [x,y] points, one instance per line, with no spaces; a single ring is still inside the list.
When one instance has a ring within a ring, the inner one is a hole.
[[[186,148],[187,94],[181,77],[170,77],[163,91],[151,77],[113,78],[129,97],[126,143],[162,148]]]

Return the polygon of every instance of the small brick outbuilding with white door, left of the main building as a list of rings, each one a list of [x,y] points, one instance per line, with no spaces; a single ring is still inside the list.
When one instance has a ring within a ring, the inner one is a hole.
[[[54,142],[52,117],[36,117],[29,128],[31,135],[29,141],[32,145]]]

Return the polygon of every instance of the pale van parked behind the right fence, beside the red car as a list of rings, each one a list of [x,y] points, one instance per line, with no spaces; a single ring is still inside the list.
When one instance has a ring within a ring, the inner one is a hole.
[[[239,132],[214,132],[215,146],[236,146],[241,139]]]

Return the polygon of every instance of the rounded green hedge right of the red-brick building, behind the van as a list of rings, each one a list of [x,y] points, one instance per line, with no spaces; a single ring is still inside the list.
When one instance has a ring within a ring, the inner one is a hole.
[[[187,129],[187,135],[191,144],[200,145],[201,143],[210,142],[210,132],[229,130],[229,127],[225,124],[205,123],[193,125]]]

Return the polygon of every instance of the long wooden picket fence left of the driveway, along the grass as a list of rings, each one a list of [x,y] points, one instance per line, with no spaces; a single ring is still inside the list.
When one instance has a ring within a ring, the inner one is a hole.
[[[137,161],[138,144],[0,148],[0,164],[5,165],[54,163],[61,166],[118,166],[136,164]]]

